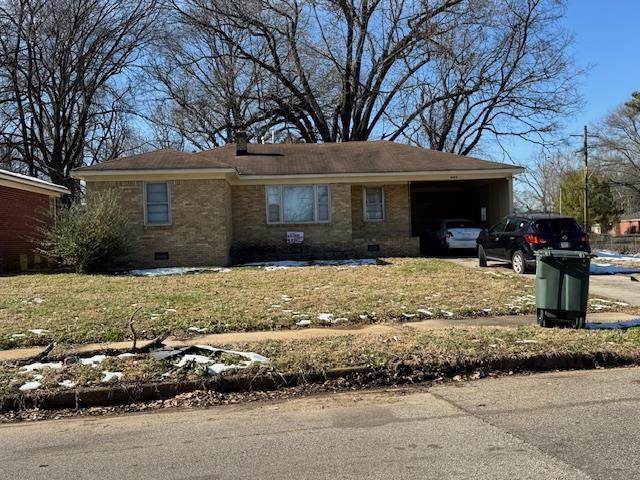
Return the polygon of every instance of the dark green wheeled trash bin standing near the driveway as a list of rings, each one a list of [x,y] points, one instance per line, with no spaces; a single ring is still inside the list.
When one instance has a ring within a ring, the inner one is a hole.
[[[536,314],[542,327],[584,328],[592,255],[573,250],[536,252]]]

